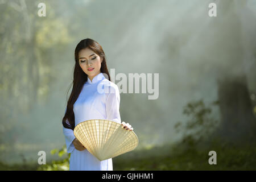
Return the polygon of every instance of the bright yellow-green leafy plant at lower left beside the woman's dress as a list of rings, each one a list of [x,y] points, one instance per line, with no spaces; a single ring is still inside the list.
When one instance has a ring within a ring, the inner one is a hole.
[[[51,150],[51,154],[57,154],[59,160],[52,160],[51,164],[45,164],[38,167],[38,171],[68,171],[70,154],[67,153],[67,147],[64,145],[59,150],[57,148]],[[64,156],[64,158],[63,158]]]

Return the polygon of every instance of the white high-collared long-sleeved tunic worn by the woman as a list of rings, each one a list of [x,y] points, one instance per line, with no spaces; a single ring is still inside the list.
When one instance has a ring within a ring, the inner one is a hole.
[[[98,85],[102,89],[98,89]],[[108,92],[104,92],[104,88],[108,88]],[[103,73],[96,75],[92,81],[88,78],[77,101],[73,105],[75,126],[89,119],[109,119],[121,123],[119,104],[119,89],[114,82],[106,79]],[[73,130],[63,127],[63,133],[67,145],[67,152],[71,153],[69,170],[113,170],[112,158],[100,161],[86,149],[83,151],[76,150],[72,143],[75,139]]]

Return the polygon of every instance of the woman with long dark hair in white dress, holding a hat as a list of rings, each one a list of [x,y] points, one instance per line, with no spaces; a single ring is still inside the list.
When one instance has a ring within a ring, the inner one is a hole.
[[[98,84],[107,86],[104,90],[110,92],[98,92]],[[113,170],[112,159],[98,160],[76,139],[73,130],[89,119],[121,123],[119,104],[119,89],[110,81],[102,47],[92,39],[81,40],[75,49],[73,89],[62,121],[67,152],[71,153],[69,170]],[[122,125],[126,130],[133,130],[129,123]]]

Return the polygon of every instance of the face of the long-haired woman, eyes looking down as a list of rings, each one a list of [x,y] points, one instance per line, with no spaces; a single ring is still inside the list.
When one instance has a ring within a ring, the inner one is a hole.
[[[91,49],[86,48],[79,51],[79,65],[82,71],[88,75],[90,81],[101,72],[101,63],[102,58]],[[90,71],[91,69],[92,71]]]

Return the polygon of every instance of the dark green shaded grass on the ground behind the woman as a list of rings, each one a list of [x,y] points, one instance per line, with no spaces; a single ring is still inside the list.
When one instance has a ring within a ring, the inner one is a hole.
[[[216,151],[217,164],[210,165],[209,151]],[[0,162],[0,170],[36,170],[37,163],[8,165]],[[135,150],[113,158],[115,170],[256,170],[256,145],[184,147],[182,144],[155,146]]]

